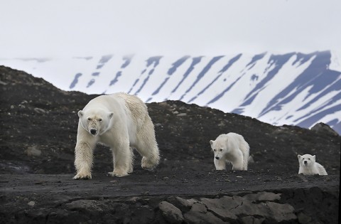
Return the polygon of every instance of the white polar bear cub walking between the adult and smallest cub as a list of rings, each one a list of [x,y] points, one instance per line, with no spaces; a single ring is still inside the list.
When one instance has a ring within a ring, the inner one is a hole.
[[[226,163],[229,161],[232,170],[247,171],[250,147],[242,135],[233,132],[220,134],[215,141],[210,140],[210,144],[215,153],[215,169],[226,169]]]

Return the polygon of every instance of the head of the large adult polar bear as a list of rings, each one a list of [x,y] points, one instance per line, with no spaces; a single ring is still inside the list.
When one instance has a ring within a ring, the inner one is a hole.
[[[105,110],[80,110],[78,112],[82,127],[93,136],[101,135],[109,129],[110,119],[113,115],[113,112]]]

